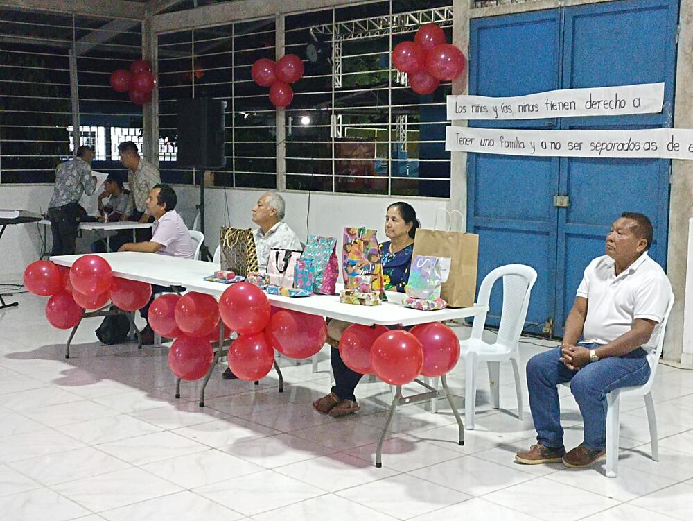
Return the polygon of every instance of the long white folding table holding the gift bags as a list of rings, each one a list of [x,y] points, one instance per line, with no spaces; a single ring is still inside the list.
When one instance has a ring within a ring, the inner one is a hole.
[[[228,287],[227,284],[204,280],[204,277],[211,275],[214,271],[213,264],[209,262],[136,252],[103,253],[100,254],[100,256],[109,262],[113,270],[113,274],[116,277],[139,280],[141,282],[149,282],[150,284],[159,284],[161,286],[182,286],[188,291],[198,291],[200,293],[206,293],[207,295],[217,298],[220,297]],[[75,262],[79,257],[80,255],[60,255],[57,257],[51,257],[51,261],[55,262],[55,264],[59,264],[60,266],[69,267],[72,266],[73,262]],[[267,298],[269,298],[270,303],[274,307],[279,307],[281,309],[291,309],[293,311],[300,311],[301,313],[325,316],[328,318],[337,318],[339,320],[355,324],[385,325],[391,327],[405,327],[430,322],[456,320],[482,314],[489,310],[488,306],[474,305],[472,307],[457,309],[448,308],[441,309],[439,311],[419,311],[417,309],[402,307],[399,304],[402,298],[400,293],[387,293],[387,295],[389,301],[383,302],[378,306],[342,304],[339,301],[339,297],[335,295],[313,295],[304,298],[267,295]],[[103,312],[104,311],[101,311],[102,314]],[[109,311],[105,312],[107,313]],[[85,316],[98,316],[96,313],[98,313],[98,311],[94,314],[85,314]],[[68,341],[68,357],[69,342],[76,332],[77,327],[79,327],[79,325],[74,328]],[[222,355],[222,353],[223,343],[220,342],[219,348],[216,350],[214,364],[216,364],[216,361],[218,361],[218,358]],[[210,368],[209,373],[207,373],[207,377],[205,378],[202,386],[202,391],[200,393],[200,407],[204,407],[204,385],[206,385],[207,381],[209,380],[214,364],[212,368]],[[279,366],[277,366],[277,364],[275,364],[275,368],[279,374],[279,389],[281,392],[281,370],[279,370]],[[381,452],[383,441],[385,441],[387,429],[392,421],[392,416],[394,415],[394,411],[398,405],[424,402],[426,400],[438,398],[442,394],[445,394],[459,427],[459,445],[464,445],[464,427],[462,425],[462,418],[460,418],[457,408],[453,403],[453,397],[450,394],[450,389],[448,388],[448,384],[446,382],[446,375],[441,376],[441,390],[429,386],[420,379],[416,379],[414,382],[426,388],[426,392],[416,395],[403,396],[401,386],[396,386],[396,392],[394,393],[394,397],[392,399],[392,404],[385,422],[385,427],[383,428],[383,433],[378,441],[378,448],[376,451],[377,467],[382,465]],[[179,391],[177,389],[177,398],[178,397]]]

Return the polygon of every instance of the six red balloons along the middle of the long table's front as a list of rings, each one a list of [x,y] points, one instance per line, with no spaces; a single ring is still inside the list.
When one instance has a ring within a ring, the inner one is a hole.
[[[152,330],[175,338],[168,352],[173,373],[187,380],[203,377],[209,370],[211,342],[220,337],[220,320],[227,338],[238,338],[229,347],[229,367],[240,379],[254,382],[264,378],[274,365],[274,349],[292,358],[317,353],[327,338],[321,316],[270,309],[267,295],[254,284],[229,286],[219,300],[202,293],[185,296],[166,294],[152,302],[148,314]]]

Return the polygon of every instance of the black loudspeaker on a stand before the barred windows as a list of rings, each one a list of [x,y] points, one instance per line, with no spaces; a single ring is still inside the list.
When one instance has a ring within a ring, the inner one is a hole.
[[[224,155],[226,101],[212,98],[179,99],[178,166],[221,168]]]

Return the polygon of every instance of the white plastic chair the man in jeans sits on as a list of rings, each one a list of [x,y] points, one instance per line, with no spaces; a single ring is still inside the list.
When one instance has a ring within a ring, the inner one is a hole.
[[[667,321],[669,313],[674,306],[674,293],[669,295],[669,304],[667,311],[664,314],[662,324],[657,332],[657,349],[655,352],[647,355],[647,361],[650,365],[650,376],[642,385],[633,387],[622,387],[615,389],[606,395],[606,477],[616,477],[618,470],[618,438],[620,435],[620,414],[619,403],[622,396],[642,396],[645,401],[645,409],[647,410],[647,425],[649,425],[650,444],[652,446],[652,459],[659,461],[659,443],[657,437],[657,416],[654,411],[654,400],[652,399],[652,384],[657,373],[659,359],[662,356],[664,346],[664,334],[667,329]],[[564,384],[570,387],[570,382]]]

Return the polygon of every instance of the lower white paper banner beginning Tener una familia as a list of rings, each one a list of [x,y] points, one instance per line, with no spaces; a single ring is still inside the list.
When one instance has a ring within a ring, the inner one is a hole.
[[[505,155],[693,160],[693,130],[512,130],[449,126],[445,149]]]

